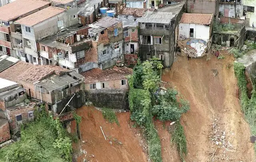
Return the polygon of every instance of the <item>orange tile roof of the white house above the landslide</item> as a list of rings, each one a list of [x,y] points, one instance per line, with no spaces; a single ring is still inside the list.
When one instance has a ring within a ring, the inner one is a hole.
[[[180,23],[198,23],[201,25],[210,25],[213,14],[190,14],[184,13],[180,19]]]

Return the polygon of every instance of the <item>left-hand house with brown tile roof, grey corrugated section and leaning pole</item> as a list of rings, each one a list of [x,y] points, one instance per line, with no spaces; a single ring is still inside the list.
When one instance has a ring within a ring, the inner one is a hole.
[[[31,98],[48,103],[53,113],[60,113],[72,96],[74,98],[70,101],[70,109],[78,108],[84,102],[82,96],[84,77],[73,70],[19,61],[0,72],[0,77],[17,82],[26,89],[26,93]]]

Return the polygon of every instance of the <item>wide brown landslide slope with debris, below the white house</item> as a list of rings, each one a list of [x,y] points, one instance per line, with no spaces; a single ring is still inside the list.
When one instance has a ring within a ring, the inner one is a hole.
[[[175,87],[190,102],[190,110],[181,119],[188,144],[186,162],[208,161],[215,149],[215,161],[255,162],[250,130],[240,110],[233,61],[229,55],[209,61],[206,57],[189,61],[178,57],[171,70],[163,72],[162,80],[170,83],[166,86]],[[223,139],[217,145],[212,139],[218,133]]]

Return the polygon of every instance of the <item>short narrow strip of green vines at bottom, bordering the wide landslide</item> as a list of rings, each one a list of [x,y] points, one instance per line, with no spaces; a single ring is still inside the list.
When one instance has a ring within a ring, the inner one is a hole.
[[[185,155],[187,154],[187,142],[184,129],[180,122],[178,121],[174,126],[174,131],[170,132],[172,134],[172,142],[177,146],[178,152],[180,154],[180,160],[185,161]]]

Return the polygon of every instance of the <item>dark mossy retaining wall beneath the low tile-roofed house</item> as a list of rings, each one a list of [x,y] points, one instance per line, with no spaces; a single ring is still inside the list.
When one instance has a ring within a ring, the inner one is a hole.
[[[126,89],[88,90],[86,92],[86,99],[92,101],[95,107],[129,109]]]

